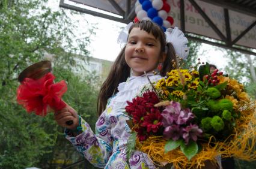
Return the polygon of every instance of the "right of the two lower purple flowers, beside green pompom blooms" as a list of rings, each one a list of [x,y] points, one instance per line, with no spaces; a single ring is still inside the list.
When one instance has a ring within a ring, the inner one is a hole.
[[[186,128],[183,128],[182,130],[182,137],[184,138],[186,144],[189,143],[190,139],[197,141],[197,137],[201,137],[203,134],[203,130],[198,128],[198,125],[192,125],[191,123],[189,126],[186,126]]]

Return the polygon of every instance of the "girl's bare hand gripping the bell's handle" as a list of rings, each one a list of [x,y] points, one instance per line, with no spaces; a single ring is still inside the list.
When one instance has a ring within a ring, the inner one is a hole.
[[[67,105],[67,107],[62,108],[59,111],[55,111],[54,119],[56,120],[58,125],[67,129],[76,129],[76,127],[79,125],[78,114],[76,113],[76,110],[74,110],[69,105]],[[66,122],[70,120],[73,121],[73,124],[67,125]]]

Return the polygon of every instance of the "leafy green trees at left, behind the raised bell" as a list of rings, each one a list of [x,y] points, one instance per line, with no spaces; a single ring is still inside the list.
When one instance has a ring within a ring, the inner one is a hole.
[[[16,102],[17,75],[45,56],[52,56],[48,59],[55,81],[68,83],[64,101],[91,126],[97,119],[99,77],[75,73],[85,71],[84,56],[90,54],[86,47],[94,32],[89,26],[87,34],[74,40],[77,28],[67,11],[52,11],[46,2],[0,1],[0,168],[58,168],[83,158],[64,138],[52,113],[28,114]]]

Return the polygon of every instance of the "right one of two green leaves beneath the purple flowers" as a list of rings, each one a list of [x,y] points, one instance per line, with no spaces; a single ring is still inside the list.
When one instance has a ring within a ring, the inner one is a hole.
[[[187,157],[187,159],[192,159],[198,152],[198,145],[195,141],[190,141],[189,144],[184,142],[180,144],[181,152]]]

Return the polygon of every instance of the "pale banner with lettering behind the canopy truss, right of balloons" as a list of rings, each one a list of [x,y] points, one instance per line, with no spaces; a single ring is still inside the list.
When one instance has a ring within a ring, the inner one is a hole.
[[[167,1],[171,5],[169,15],[173,17],[174,25],[180,28],[180,1]],[[215,23],[222,34],[227,37],[224,8],[203,1],[195,0],[195,2],[197,2],[201,9],[212,20],[212,22]],[[197,10],[195,10],[194,6],[190,4],[188,0],[184,0],[184,11],[186,32],[221,40],[221,38],[219,38],[215,31],[213,31],[206,20],[203,19],[203,17],[198,13]],[[241,32],[245,31],[246,28],[255,22],[255,17],[237,13],[236,11],[231,10],[228,10],[228,12],[230,16],[231,40],[234,40],[241,34]],[[236,44],[256,49],[256,26],[247,32],[239,41],[237,41]]]

